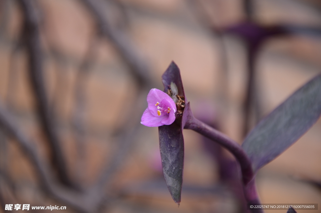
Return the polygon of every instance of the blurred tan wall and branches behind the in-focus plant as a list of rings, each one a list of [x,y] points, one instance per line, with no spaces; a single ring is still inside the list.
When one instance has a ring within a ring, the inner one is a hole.
[[[245,212],[233,157],[191,130],[171,199],[140,118],[172,60],[195,116],[241,144],[320,73],[321,2],[1,0],[0,212]],[[258,172],[262,203],[321,208],[320,130]]]

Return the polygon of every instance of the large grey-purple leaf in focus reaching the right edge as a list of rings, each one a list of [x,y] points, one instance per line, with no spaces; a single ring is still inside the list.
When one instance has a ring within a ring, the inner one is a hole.
[[[298,89],[247,135],[242,147],[254,171],[295,143],[320,117],[321,75]]]

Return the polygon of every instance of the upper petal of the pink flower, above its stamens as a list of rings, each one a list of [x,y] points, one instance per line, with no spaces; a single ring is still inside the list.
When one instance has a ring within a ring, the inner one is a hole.
[[[147,95],[147,103],[148,103],[148,108],[151,111],[153,116],[163,116],[164,114],[162,113],[162,115],[158,115],[157,114],[157,106],[155,106],[155,104],[158,102],[160,103],[163,99],[166,99],[170,102],[170,104],[175,107],[175,111],[176,111],[176,105],[175,102],[173,101],[173,99],[171,97],[169,97],[169,95],[167,95],[165,92],[153,88],[149,91],[148,95]]]

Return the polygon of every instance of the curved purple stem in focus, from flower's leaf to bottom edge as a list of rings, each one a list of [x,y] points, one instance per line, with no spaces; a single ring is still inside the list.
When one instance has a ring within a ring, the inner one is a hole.
[[[184,129],[192,129],[229,150],[235,156],[241,167],[243,191],[247,202],[259,204],[260,200],[256,191],[255,174],[252,170],[251,160],[248,158],[242,147],[225,134],[196,119],[188,105],[189,104],[187,104],[185,109],[185,111],[188,110],[188,116],[184,125]],[[252,213],[262,212],[262,209],[252,210]]]

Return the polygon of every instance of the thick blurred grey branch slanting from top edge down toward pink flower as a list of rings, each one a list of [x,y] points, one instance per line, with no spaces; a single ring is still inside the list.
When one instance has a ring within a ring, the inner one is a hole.
[[[99,0],[80,1],[90,10],[96,20],[100,33],[115,44],[119,53],[130,67],[130,72],[138,82],[138,85],[152,88],[151,78],[149,77],[151,71],[141,53],[138,51],[138,48],[134,46],[134,43],[126,33],[121,32],[110,25],[105,18],[105,11],[103,11],[104,6],[101,2]]]

